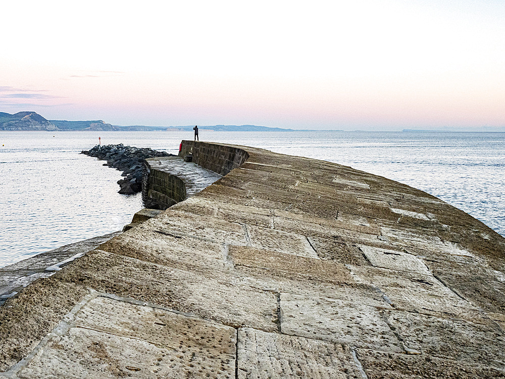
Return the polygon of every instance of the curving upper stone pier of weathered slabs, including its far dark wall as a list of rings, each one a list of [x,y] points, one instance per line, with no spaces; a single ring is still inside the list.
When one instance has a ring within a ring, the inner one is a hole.
[[[189,152],[223,176],[0,307],[0,377],[505,377],[502,236],[350,167]]]

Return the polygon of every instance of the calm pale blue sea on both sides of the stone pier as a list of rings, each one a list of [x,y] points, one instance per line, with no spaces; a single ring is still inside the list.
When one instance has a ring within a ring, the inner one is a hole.
[[[121,230],[142,208],[121,172],[85,155],[102,144],[178,152],[188,132],[0,132],[0,266]],[[211,132],[208,141],[351,166],[422,189],[505,235],[505,133]]]

